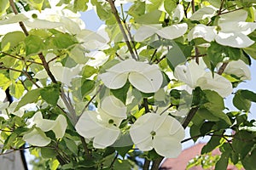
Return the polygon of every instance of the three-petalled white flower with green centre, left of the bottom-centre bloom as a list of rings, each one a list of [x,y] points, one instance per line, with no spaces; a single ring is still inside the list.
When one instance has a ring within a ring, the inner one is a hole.
[[[103,149],[120,135],[119,125],[126,118],[125,105],[113,96],[102,100],[98,111],[84,111],[75,128],[85,139],[93,139],[93,146]]]

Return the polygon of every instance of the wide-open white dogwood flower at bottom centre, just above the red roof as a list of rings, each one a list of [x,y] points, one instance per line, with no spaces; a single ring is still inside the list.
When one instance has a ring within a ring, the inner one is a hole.
[[[147,113],[131,126],[130,135],[138,149],[154,149],[160,156],[174,158],[182,151],[185,132],[181,123],[172,116]]]

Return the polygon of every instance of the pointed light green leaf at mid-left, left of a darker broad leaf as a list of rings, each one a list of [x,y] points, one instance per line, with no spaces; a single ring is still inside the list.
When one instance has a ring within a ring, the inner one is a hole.
[[[26,104],[35,103],[40,96],[41,88],[33,89],[32,91],[28,91],[21,99],[19,104],[16,106],[15,111],[18,111],[20,107]]]

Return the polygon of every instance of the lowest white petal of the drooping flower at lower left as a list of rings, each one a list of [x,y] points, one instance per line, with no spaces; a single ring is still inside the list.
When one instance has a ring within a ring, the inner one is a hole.
[[[46,146],[50,143],[50,139],[37,128],[34,128],[32,132],[26,133],[23,139],[28,143],[35,146]]]

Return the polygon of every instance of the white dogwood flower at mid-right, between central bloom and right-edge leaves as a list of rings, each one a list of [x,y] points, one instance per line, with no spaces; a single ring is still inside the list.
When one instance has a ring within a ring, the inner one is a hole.
[[[174,76],[190,88],[211,89],[222,97],[227,97],[233,91],[230,81],[217,73],[213,73],[212,77],[212,73],[206,71],[203,65],[197,65],[195,60],[192,60],[189,65],[177,65]]]

